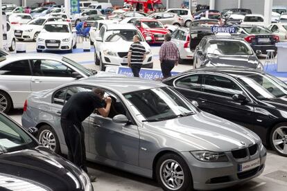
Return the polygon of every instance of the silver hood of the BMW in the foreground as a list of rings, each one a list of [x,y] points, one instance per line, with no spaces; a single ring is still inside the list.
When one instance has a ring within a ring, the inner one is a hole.
[[[181,140],[184,143],[182,145],[189,145],[189,147],[177,148],[180,149],[180,152],[186,150],[227,152],[246,145],[252,145],[260,140],[259,136],[245,127],[204,111],[182,118],[148,122],[146,125],[159,129],[159,133],[164,136]]]

